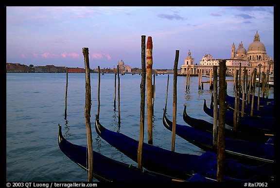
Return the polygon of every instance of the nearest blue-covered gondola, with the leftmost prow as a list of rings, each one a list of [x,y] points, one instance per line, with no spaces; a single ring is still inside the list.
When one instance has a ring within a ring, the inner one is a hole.
[[[87,148],[70,143],[66,140],[58,124],[58,145],[60,150],[74,163],[88,171]],[[210,181],[201,175],[194,174],[189,181]],[[120,161],[113,160],[105,155],[93,151],[93,176],[102,182],[174,182],[182,179],[139,169]]]

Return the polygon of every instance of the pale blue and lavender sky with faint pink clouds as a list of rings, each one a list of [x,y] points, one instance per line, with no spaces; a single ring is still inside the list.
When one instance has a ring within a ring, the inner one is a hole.
[[[34,66],[117,68],[123,60],[141,68],[141,36],[152,37],[153,68],[178,69],[191,52],[194,63],[205,54],[231,56],[247,50],[258,32],[274,59],[273,6],[7,6],[6,62]]]

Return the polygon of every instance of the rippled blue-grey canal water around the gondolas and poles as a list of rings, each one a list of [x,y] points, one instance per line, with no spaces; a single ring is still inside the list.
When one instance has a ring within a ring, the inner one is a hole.
[[[95,132],[98,74],[90,74],[90,77],[93,150],[137,166],[137,163],[110,146]],[[233,77],[226,79],[233,80]],[[158,74],[155,77],[153,144],[171,150],[172,132],[162,124],[167,80],[168,74]],[[209,78],[202,78],[202,81],[207,80]],[[109,130],[121,132],[138,140],[141,76],[120,75],[120,126],[118,95],[116,109],[114,108],[115,75],[101,75],[100,81],[100,123]],[[65,90],[65,73],[6,73],[6,181],[87,181],[87,172],[60,151],[57,126],[58,123],[62,125],[63,135],[70,142],[87,146],[84,114],[85,74],[69,74],[66,120]],[[186,77],[177,77],[177,123],[186,124],[182,118],[184,104],[187,105],[187,112],[191,117],[213,122],[203,111],[204,99],[210,106],[211,93],[209,84],[204,84],[203,90],[198,89],[198,77],[190,78],[190,89],[186,89]],[[232,81],[227,82],[227,93],[234,96]],[[273,98],[273,93],[273,88],[270,88],[269,98]],[[167,117],[170,120],[173,117],[173,74],[169,74]],[[144,142],[147,142],[146,123],[145,119]],[[175,152],[197,155],[204,153],[178,136],[175,141]]]

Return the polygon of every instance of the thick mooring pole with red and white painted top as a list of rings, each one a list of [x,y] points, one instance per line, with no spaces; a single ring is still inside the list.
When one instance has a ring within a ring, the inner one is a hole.
[[[147,127],[148,127],[148,143],[153,144],[153,42],[152,37],[148,36],[147,40]]]

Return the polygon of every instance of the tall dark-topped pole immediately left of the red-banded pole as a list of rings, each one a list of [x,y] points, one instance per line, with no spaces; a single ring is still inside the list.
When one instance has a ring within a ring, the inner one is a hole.
[[[142,73],[141,73],[141,83],[140,83],[140,94],[141,94],[141,101],[140,101],[140,135],[139,135],[139,144],[138,144],[138,168],[142,168],[142,148],[144,142],[144,125],[145,125],[145,87],[146,87],[146,36],[141,36],[141,66],[142,66]]]

